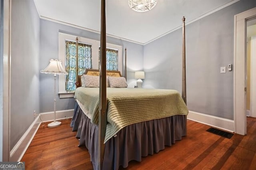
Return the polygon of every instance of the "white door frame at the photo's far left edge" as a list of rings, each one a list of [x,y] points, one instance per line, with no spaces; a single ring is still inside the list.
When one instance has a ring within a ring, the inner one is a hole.
[[[3,28],[3,161],[10,160],[10,24],[11,0],[4,0]]]

